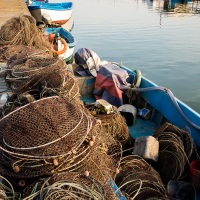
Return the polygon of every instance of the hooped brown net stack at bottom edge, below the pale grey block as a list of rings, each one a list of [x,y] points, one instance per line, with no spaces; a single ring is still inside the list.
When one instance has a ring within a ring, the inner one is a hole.
[[[136,155],[125,156],[120,167],[115,181],[127,199],[170,199],[160,175],[143,158]]]

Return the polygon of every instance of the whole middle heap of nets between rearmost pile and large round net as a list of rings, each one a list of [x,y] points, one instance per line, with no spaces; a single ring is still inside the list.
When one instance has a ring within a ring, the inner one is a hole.
[[[1,108],[1,118],[18,107],[50,96],[60,96],[77,105],[83,104],[78,82],[67,70],[64,61],[38,52],[33,53],[34,48],[23,49],[8,60],[5,81],[13,95]],[[23,57],[24,53],[30,55]]]

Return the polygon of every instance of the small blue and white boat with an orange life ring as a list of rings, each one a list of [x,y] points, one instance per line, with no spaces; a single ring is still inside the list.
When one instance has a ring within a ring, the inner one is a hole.
[[[50,39],[52,43],[57,40],[57,49],[53,49],[55,54],[57,54],[66,63],[70,62],[73,58],[73,52],[76,44],[74,36],[62,27],[45,28],[45,32],[49,36],[53,35],[53,38]]]

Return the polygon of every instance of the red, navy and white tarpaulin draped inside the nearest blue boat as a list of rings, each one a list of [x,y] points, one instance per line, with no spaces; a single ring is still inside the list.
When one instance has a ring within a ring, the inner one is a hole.
[[[107,63],[99,68],[94,95],[96,99],[105,99],[117,107],[123,105],[122,94],[130,87],[126,79],[129,77],[126,70],[116,64]]]

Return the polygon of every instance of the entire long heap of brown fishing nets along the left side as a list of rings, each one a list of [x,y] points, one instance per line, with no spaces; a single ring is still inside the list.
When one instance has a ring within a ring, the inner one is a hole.
[[[46,190],[44,185],[38,192],[55,199],[65,191],[55,191],[54,186],[66,190],[67,185],[65,175],[55,178],[58,173],[85,173],[101,185],[93,192],[83,187],[82,179],[70,182],[68,189],[76,185],[74,195],[78,186],[83,195],[116,199],[109,181],[119,173],[122,143],[128,136],[120,113],[110,116],[118,126],[111,120],[106,127],[84,107],[78,81],[63,60],[53,57],[50,43],[32,17],[12,18],[0,35],[0,60],[7,61],[3,75],[10,89],[0,108],[0,174],[20,194],[22,188],[50,177],[53,186]]]

